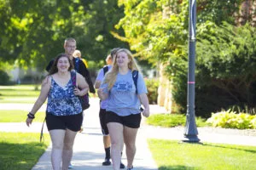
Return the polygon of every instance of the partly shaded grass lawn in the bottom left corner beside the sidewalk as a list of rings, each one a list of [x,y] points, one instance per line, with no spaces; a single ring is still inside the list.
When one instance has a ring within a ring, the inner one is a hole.
[[[49,134],[44,134],[44,143],[39,142],[39,133],[1,133],[0,169],[31,169],[49,145]]]

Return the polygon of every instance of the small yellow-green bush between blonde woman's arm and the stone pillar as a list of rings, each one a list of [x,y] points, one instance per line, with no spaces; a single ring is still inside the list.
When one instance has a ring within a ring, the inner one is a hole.
[[[159,87],[159,81],[157,79],[146,79],[146,85],[148,88],[148,100],[149,104],[157,103],[157,90]]]

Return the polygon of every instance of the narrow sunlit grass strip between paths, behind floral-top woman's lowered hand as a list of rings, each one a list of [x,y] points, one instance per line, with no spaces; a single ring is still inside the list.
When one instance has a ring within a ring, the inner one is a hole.
[[[0,122],[25,122],[27,111],[0,110]],[[38,111],[33,122],[44,122],[45,112]]]

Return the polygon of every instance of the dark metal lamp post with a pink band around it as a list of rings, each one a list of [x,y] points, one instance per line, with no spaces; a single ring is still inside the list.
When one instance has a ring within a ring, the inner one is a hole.
[[[189,0],[189,68],[188,68],[188,96],[187,119],[183,142],[198,143],[195,124],[195,25],[196,0]]]

